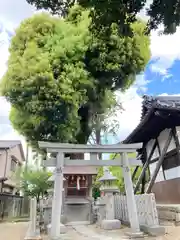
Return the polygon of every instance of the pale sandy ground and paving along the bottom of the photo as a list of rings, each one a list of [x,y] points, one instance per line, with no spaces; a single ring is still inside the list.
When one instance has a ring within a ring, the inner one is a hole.
[[[24,240],[28,223],[0,223],[0,240]],[[170,226],[165,236],[146,240],[180,240],[180,226]],[[127,228],[116,231],[104,231],[95,226],[68,227],[68,233],[62,235],[62,240],[125,240]],[[44,240],[47,238],[45,237]]]

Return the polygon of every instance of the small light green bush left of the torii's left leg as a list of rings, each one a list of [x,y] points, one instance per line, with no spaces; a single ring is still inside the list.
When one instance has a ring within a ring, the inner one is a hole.
[[[48,181],[51,173],[44,169],[36,169],[32,166],[17,169],[14,176],[18,188],[26,195],[36,197],[39,201],[40,197],[47,194],[47,190],[51,188],[52,183]]]

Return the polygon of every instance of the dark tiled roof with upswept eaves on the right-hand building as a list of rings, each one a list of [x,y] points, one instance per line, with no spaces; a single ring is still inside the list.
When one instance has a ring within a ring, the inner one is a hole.
[[[143,97],[140,123],[123,143],[146,143],[164,129],[175,126],[180,126],[180,97],[146,95]]]

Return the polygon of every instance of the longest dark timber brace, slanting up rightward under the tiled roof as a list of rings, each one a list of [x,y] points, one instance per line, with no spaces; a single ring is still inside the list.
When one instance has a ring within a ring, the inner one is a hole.
[[[159,160],[158,160],[158,162],[157,162],[157,164],[156,164],[156,168],[155,168],[155,170],[154,170],[154,173],[153,173],[153,175],[152,175],[152,178],[151,178],[151,180],[150,180],[150,182],[149,182],[149,185],[148,185],[148,187],[147,187],[146,193],[150,193],[151,190],[152,190],[152,187],[153,187],[154,182],[155,182],[155,180],[156,180],[156,177],[157,177],[157,175],[158,175],[159,169],[160,169],[160,167],[161,167],[161,165],[162,165],[162,163],[163,163],[164,157],[165,157],[165,155],[166,155],[166,152],[167,152],[167,150],[168,150],[169,144],[170,144],[170,142],[171,142],[172,135],[173,135],[173,134],[172,134],[172,130],[170,130],[169,136],[168,136],[168,138],[167,138],[167,140],[166,140],[166,142],[165,142],[165,145],[164,145],[164,148],[163,148],[163,150],[162,150],[161,156],[159,157]]]

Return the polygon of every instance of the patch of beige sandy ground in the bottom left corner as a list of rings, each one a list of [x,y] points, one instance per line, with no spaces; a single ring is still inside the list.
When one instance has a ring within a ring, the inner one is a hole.
[[[0,240],[23,240],[28,223],[0,223]]]

